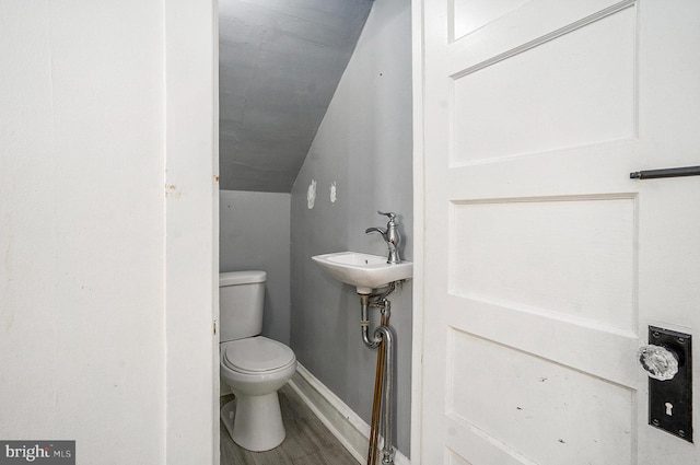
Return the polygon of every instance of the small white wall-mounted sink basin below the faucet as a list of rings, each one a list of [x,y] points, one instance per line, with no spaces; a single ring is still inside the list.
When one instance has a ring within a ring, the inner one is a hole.
[[[410,279],[413,276],[411,261],[387,264],[386,257],[380,255],[337,252],[311,258],[334,278],[354,286],[359,294],[371,294],[373,289],[384,288],[389,282]]]

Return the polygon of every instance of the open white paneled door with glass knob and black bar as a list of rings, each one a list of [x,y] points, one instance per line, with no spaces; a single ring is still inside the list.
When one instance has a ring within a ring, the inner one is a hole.
[[[700,165],[700,2],[421,7],[413,462],[700,464],[635,360],[649,325],[700,339],[700,176],[630,179]]]

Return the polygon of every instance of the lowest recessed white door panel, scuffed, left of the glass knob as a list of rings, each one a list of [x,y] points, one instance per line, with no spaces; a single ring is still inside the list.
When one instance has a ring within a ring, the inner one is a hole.
[[[630,463],[631,388],[456,329],[448,335],[447,360],[446,409],[456,422],[538,464],[598,464],[614,455]],[[485,372],[489,376],[462,375]]]

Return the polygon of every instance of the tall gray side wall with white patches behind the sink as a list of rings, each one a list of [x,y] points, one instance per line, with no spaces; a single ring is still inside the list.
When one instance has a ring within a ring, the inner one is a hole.
[[[348,249],[386,254],[377,234],[364,233],[386,224],[376,213],[382,210],[400,214],[404,257],[411,259],[411,137],[410,1],[382,0],[372,8],[292,188],[291,210],[291,346],[300,362],[368,422],[376,351],[362,342],[359,299],[353,288],[324,275],[311,256]],[[317,196],[310,209],[312,181]],[[405,455],[410,450],[411,286],[389,298],[398,358],[394,444]]]

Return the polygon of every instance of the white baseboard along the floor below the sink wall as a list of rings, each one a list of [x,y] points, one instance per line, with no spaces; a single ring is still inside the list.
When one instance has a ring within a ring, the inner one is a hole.
[[[359,463],[365,463],[370,426],[301,363],[298,363],[296,373],[289,384],[352,456]],[[394,463],[410,465],[410,461],[398,450]]]

